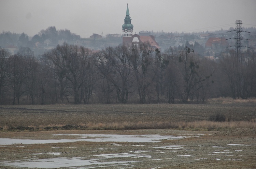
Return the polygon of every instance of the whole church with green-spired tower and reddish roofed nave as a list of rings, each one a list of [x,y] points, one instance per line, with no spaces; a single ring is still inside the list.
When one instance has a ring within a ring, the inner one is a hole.
[[[133,24],[131,24],[131,17],[129,13],[129,7],[127,4],[126,9],[126,16],[124,19],[125,23],[122,25],[123,28],[123,45],[126,46],[132,46],[133,44],[138,44],[139,42],[149,42],[151,44],[151,47],[154,49],[160,49],[158,46],[159,44],[156,42],[155,37],[150,36],[140,36],[138,34],[132,34],[133,33]]]

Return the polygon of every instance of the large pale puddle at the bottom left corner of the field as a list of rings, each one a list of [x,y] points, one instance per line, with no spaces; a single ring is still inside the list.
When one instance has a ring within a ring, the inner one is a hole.
[[[136,161],[111,161],[111,162],[101,162],[100,159],[83,159],[84,157],[73,157],[73,158],[48,158],[48,159],[34,159],[26,160],[26,161],[7,161],[0,162],[1,165],[5,166],[15,166],[18,168],[27,167],[27,168],[35,168],[42,167],[43,168],[60,168],[60,167],[70,167],[70,168],[81,168],[81,166],[91,166],[98,165],[97,167],[104,167],[102,165],[131,165],[131,163],[138,163]],[[100,166],[99,166],[100,165]],[[84,168],[84,167],[83,167]],[[91,167],[90,167],[91,168]]]

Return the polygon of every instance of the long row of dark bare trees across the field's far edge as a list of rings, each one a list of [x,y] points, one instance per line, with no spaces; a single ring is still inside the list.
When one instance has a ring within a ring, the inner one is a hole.
[[[239,58],[231,51],[219,62],[188,46],[160,52],[149,43],[97,52],[64,43],[40,60],[29,48],[0,52],[1,104],[199,103],[256,95],[253,50]]]

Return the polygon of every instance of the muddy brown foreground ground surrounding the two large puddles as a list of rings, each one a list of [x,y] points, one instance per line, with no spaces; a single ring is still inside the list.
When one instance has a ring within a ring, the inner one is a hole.
[[[255,168],[256,130],[235,129],[222,132],[183,130],[66,130],[42,132],[1,132],[1,138],[71,139],[74,136],[53,134],[158,134],[189,136],[179,140],[161,140],[158,143],[132,142],[70,142],[54,144],[15,144],[0,146],[0,168],[15,168],[4,164],[12,161],[66,157],[67,160],[98,162],[128,162],[126,165],[81,165],[75,168]],[[203,134],[203,135],[202,135]],[[174,148],[170,148],[170,147]],[[177,147],[176,147],[177,146]],[[162,148],[161,148],[162,147]],[[169,148],[168,148],[169,147]],[[50,154],[48,154],[50,153]],[[55,154],[54,154],[55,153]],[[104,158],[99,154],[136,154],[136,157]],[[36,155],[35,155],[36,154]],[[129,163],[130,162],[130,163]],[[135,163],[137,162],[137,163]],[[38,164],[37,168],[44,168]],[[79,164],[77,164],[79,165]],[[22,166],[19,166],[21,168]],[[59,166],[56,165],[55,168]],[[64,167],[65,168],[65,167]],[[67,167],[69,168],[69,167]]]

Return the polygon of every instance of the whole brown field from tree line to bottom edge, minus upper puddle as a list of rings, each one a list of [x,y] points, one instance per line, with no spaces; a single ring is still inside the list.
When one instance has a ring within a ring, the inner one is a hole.
[[[209,121],[217,114],[225,121]],[[219,98],[200,105],[0,105],[0,142],[83,134],[186,138],[0,145],[0,168],[256,168],[255,99]]]

